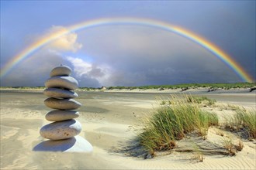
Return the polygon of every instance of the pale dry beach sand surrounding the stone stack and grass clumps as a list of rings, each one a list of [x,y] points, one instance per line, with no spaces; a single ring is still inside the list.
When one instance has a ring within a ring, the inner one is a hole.
[[[178,143],[177,151],[159,153],[157,157],[144,159],[129,142],[136,137],[133,127],[140,127],[140,119],[156,107],[156,97],[167,98],[168,93],[104,93],[78,92],[81,102],[78,121],[86,138],[94,147],[91,154],[33,151],[44,141],[39,130],[48,124],[44,115],[50,110],[43,105],[41,91],[1,91],[1,169],[255,169],[255,141],[243,140],[244,148],[235,156],[211,154],[225,151],[216,148],[206,151],[203,162],[195,158],[200,151],[180,152],[182,147],[195,150],[201,145],[199,138],[186,138]],[[195,93],[218,101],[217,113],[230,114],[224,104],[240,104],[255,108],[255,93]],[[238,138],[225,131],[234,142]],[[210,128],[208,139],[202,146],[213,148],[223,145],[225,137],[219,130]],[[208,142],[208,143],[207,143]],[[134,144],[134,143],[132,143]],[[216,146],[214,145],[214,146]],[[130,155],[132,154],[132,155]],[[137,157],[134,155],[138,155]]]

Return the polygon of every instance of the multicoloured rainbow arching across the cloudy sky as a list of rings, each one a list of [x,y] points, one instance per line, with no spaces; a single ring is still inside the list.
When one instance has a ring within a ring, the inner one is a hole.
[[[150,26],[158,29],[163,29],[168,32],[174,32],[187,39],[191,39],[193,42],[196,42],[200,46],[209,50],[209,52],[213,53],[216,57],[222,60],[223,63],[226,63],[231,70],[234,70],[234,72],[237,73],[238,76],[240,76],[241,80],[245,82],[254,82],[253,78],[251,78],[251,76],[234,59],[232,59],[231,56],[227,55],[227,53],[224,53],[222,49],[214,45],[212,42],[209,42],[208,40],[196,35],[195,33],[190,32],[186,29],[182,29],[181,27],[178,27],[178,26],[171,26],[166,22],[161,22],[161,21],[152,20],[152,19],[138,19],[138,18],[126,18],[126,17],[94,19],[86,22],[81,22],[73,26],[68,26],[67,30],[61,30],[59,32],[54,32],[47,36],[44,36],[41,39],[36,40],[36,42],[33,42],[30,46],[26,47],[26,49],[23,49],[20,53],[18,53],[16,56],[10,59],[9,62],[2,67],[0,78],[2,78],[7,73],[9,73],[9,71],[12,70],[14,66],[22,62],[23,59],[26,59],[27,57],[31,56],[32,53],[34,53],[36,50],[42,48],[43,46],[54,41],[55,39],[61,36],[64,36],[69,32],[75,32],[81,29],[88,29],[88,28],[105,26],[105,25]]]

